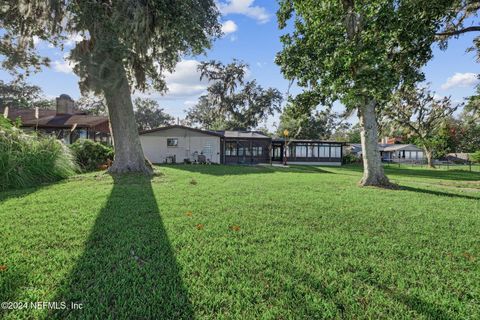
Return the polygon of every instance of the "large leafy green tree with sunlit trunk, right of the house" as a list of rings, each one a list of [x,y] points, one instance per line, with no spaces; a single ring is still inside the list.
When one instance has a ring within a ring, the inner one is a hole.
[[[376,116],[400,85],[423,79],[431,44],[455,1],[280,0],[283,35],[277,56],[287,79],[305,87],[312,105],[342,102],[361,125],[362,185],[385,186]]]

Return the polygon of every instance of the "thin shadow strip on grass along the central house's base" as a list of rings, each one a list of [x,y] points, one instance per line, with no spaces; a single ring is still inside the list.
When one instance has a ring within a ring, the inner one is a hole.
[[[246,175],[246,174],[266,174],[266,173],[330,173],[333,172],[323,170],[314,166],[270,166],[265,165],[195,165],[195,164],[177,164],[177,165],[162,165],[162,167],[169,167],[173,169],[189,171],[194,173],[214,175],[214,176],[229,176],[229,175]]]

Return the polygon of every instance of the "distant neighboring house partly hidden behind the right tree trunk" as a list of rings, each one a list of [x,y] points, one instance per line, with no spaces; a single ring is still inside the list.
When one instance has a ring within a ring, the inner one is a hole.
[[[379,143],[378,148],[384,162],[422,162],[425,158],[423,150],[413,144]],[[348,149],[357,157],[362,157],[361,144],[350,144]]]

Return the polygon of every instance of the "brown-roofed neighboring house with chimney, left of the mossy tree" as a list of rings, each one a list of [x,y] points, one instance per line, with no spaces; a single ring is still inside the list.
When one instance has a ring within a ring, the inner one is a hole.
[[[54,135],[66,144],[80,138],[111,143],[108,117],[77,111],[74,101],[66,94],[56,99],[56,110],[39,109],[38,118],[35,109],[9,109],[7,117],[12,121],[20,119],[25,131]]]

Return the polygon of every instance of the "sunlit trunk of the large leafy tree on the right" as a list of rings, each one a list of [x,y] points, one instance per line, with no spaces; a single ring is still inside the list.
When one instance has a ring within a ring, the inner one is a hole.
[[[360,181],[360,185],[389,187],[391,184],[383,171],[380,151],[378,149],[378,128],[375,106],[375,100],[371,100],[358,110],[363,151],[363,178]]]

